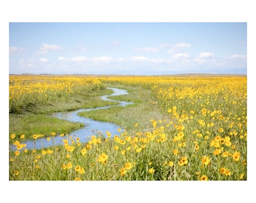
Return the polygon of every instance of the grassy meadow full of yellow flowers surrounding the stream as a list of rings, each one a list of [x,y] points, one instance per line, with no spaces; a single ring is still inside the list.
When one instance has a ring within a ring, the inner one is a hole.
[[[134,102],[80,116],[116,123],[124,131],[90,135],[83,126],[49,117],[56,111],[112,105],[100,95]],[[247,180],[247,77],[10,76],[10,180]],[[27,150],[41,136],[62,144]]]

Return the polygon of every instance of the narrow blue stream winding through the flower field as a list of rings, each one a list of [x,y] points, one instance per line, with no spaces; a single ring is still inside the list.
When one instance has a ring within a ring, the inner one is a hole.
[[[102,100],[105,101],[111,101],[111,102],[118,102],[118,105],[110,105],[110,106],[105,106],[105,107],[99,107],[99,108],[86,108],[86,109],[78,109],[76,111],[65,111],[65,112],[59,112],[59,113],[54,113],[52,114],[52,117],[56,117],[60,120],[69,120],[71,122],[79,122],[79,123],[84,123],[85,126],[83,129],[78,129],[74,132],[71,132],[69,136],[75,137],[75,138],[80,138],[80,142],[84,143],[88,141],[88,138],[90,138],[91,135],[96,135],[97,132],[102,133],[103,136],[106,135],[106,131],[111,133],[111,136],[118,135],[119,132],[117,132],[117,129],[121,129],[120,126],[117,126],[114,123],[108,123],[108,122],[101,122],[101,121],[96,121],[92,120],[87,117],[79,117],[78,113],[82,111],[95,111],[99,109],[106,109],[106,108],[111,108],[114,106],[126,106],[126,105],[131,105],[133,102],[121,102],[121,101],[116,101],[113,99],[108,98],[108,96],[112,95],[127,95],[129,94],[125,89],[117,89],[117,88],[112,88],[108,87],[108,89],[112,89],[114,92],[111,95],[102,95]],[[123,131],[123,129],[122,129]],[[59,145],[62,144],[62,140],[64,137],[60,137],[60,135],[56,135],[54,137],[51,137],[50,141],[47,141],[46,138],[38,138],[36,140],[29,140],[29,141],[24,141],[23,144],[26,144],[27,149],[41,149],[44,147],[50,147],[53,145]],[[13,144],[10,144],[10,150],[16,150],[16,146]]]

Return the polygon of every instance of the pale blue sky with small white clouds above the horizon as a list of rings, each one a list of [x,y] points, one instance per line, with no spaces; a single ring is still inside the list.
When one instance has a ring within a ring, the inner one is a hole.
[[[247,74],[247,23],[9,23],[10,74]]]

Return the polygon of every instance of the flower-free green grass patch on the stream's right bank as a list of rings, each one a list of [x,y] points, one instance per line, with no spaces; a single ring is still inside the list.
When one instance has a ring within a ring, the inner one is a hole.
[[[127,89],[129,95],[110,96],[109,98],[117,101],[134,102],[133,105],[124,107],[117,106],[108,109],[96,111],[84,111],[78,115],[81,117],[89,117],[93,120],[115,123],[126,130],[132,130],[135,123],[139,124],[139,129],[147,130],[151,128],[151,119],[163,120],[164,115],[161,114],[159,108],[151,105],[151,91],[133,86],[118,86],[118,88]]]

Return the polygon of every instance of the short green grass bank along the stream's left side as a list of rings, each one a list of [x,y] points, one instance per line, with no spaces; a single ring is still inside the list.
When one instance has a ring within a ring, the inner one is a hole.
[[[9,132],[19,137],[25,135],[25,140],[34,134],[50,135],[51,132],[70,133],[84,127],[83,123],[72,123],[67,120],[58,120],[50,117],[54,112],[74,111],[79,108],[97,108],[107,105],[116,105],[117,102],[102,101],[101,95],[109,95],[111,89],[103,89],[79,93],[67,102],[51,102],[48,105],[33,107],[23,114],[9,114]]]

